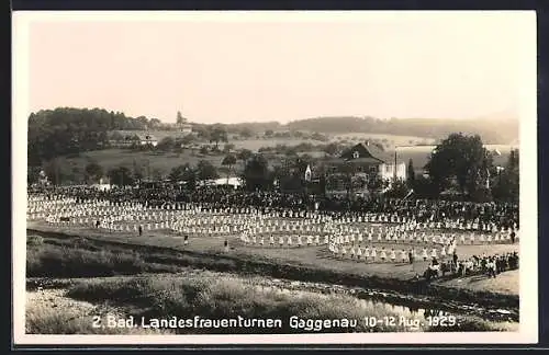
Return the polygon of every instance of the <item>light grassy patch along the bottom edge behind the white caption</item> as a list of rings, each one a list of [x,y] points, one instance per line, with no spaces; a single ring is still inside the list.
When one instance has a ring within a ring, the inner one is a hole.
[[[135,319],[135,328],[93,328],[98,312],[59,312],[53,309],[27,308],[27,332],[47,334],[291,334],[341,332],[411,332],[411,331],[508,331],[513,324],[488,322],[475,317],[458,318],[451,328],[428,327],[421,313],[395,308],[388,304],[372,304],[346,295],[322,295],[289,291],[257,286],[240,277],[219,278],[217,274],[154,275],[81,279],[67,286],[66,297],[111,309],[100,316],[102,324],[108,317]],[[75,308],[75,307],[74,307]],[[260,319],[279,320],[280,327],[208,327],[156,328],[154,319]],[[292,317],[294,321],[292,322]],[[390,324],[368,324],[366,319],[395,319]],[[326,320],[350,321],[349,327],[326,327]],[[412,323],[403,323],[401,319]],[[303,320],[299,323],[295,320]],[[356,323],[352,323],[356,321]],[[152,328],[143,328],[146,324]]]

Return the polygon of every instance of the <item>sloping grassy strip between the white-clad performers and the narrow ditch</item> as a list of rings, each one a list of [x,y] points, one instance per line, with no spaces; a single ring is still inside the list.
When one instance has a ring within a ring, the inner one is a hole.
[[[469,283],[463,279],[462,283],[452,283],[449,286],[444,282],[426,284],[413,279],[415,273],[410,265],[337,261],[326,257],[317,248],[294,248],[292,251],[237,248],[231,253],[224,253],[220,247],[222,241],[214,238],[193,239],[190,248],[182,249],[181,239],[160,233],[128,237],[87,230],[75,232],[78,234],[66,234],[60,230],[27,230],[27,277],[113,276],[143,272],[178,272],[181,267],[193,267],[358,286],[428,297],[437,302],[460,300],[462,304],[512,308],[518,311],[518,295],[513,289],[503,294],[498,291],[497,285],[484,288],[482,285],[485,280]],[[33,247],[33,243],[41,244]],[[76,248],[77,251],[67,251],[67,248]],[[478,247],[472,249],[477,250]],[[414,268],[417,266],[421,270],[419,264],[414,264]],[[498,277],[496,280],[514,284],[513,277],[509,280]]]

